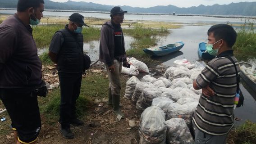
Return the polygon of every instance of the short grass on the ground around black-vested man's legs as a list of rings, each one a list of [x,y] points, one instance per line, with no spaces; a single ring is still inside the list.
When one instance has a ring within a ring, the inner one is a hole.
[[[125,92],[126,81],[122,80],[121,95]],[[107,91],[109,87],[109,80],[105,74],[91,73],[87,74],[86,78],[82,79],[81,91],[77,100],[76,108],[77,115],[81,119],[85,119],[87,115],[87,107],[90,101],[94,99],[107,99]],[[39,98],[39,108],[44,122],[47,124],[56,124],[59,119],[59,104],[60,104],[60,90],[54,89],[49,92],[46,98]]]

